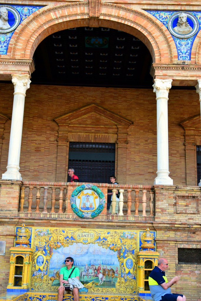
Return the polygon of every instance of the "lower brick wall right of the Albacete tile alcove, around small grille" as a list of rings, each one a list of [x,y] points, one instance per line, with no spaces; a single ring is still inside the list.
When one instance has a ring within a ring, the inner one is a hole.
[[[181,275],[180,281],[171,287],[172,293],[181,293],[187,300],[197,301],[201,295],[201,266],[194,264],[178,264],[178,248],[198,248],[200,249],[200,233],[195,229],[186,231],[174,231],[167,228],[166,231],[157,231],[157,252],[161,257],[168,260],[169,266],[165,275],[168,281],[174,276]],[[194,243],[193,243],[194,241]],[[197,241],[197,242],[196,242]]]

